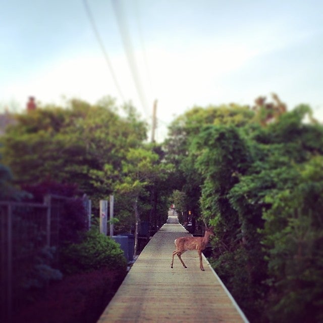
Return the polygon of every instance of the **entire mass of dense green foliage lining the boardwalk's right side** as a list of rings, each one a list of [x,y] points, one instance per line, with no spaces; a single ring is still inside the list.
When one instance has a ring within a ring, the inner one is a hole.
[[[248,318],[316,322],[323,315],[323,127],[308,106],[286,112],[274,99],[261,98],[255,119],[241,124],[203,124],[194,108],[179,118],[179,141],[169,149],[183,152],[173,160],[201,188],[202,218],[216,232],[211,263]]]

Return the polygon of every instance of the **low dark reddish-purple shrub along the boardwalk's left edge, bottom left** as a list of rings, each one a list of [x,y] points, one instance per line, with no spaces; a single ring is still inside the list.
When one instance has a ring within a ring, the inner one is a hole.
[[[126,271],[101,268],[65,277],[34,301],[14,308],[12,323],[95,323],[118,290]]]

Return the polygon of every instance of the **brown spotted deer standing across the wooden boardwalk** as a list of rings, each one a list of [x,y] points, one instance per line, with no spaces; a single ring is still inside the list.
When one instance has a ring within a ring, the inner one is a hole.
[[[200,257],[200,270],[204,272],[204,267],[202,263],[202,251],[206,248],[210,236],[214,236],[214,232],[209,228],[205,228],[204,237],[180,237],[175,239],[176,250],[173,251],[171,268],[173,268],[174,256],[176,254],[181,260],[184,268],[187,268],[184,261],[182,260],[181,255],[187,250],[197,250],[197,253]]]

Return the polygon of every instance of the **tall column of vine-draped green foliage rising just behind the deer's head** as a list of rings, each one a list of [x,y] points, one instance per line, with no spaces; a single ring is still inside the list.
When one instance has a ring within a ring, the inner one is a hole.
[[[222,244],[234,248],[239,221],[227,195],[250,163],[245,142],[233,126],[209,126],[196,137],[194,147],[203,147],[195,163],[204,179],[200,199],[203,219],[222,237]]]

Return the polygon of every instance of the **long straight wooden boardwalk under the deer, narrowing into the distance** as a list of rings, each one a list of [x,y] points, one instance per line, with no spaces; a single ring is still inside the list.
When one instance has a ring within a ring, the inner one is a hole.
[[[221,280],[203,257],[187,251],[171,268],[174,240],[188,235],[177,217],[152,237],[131,267],[98,323],[112,322],[248,322]]]

